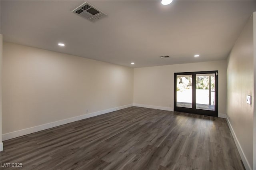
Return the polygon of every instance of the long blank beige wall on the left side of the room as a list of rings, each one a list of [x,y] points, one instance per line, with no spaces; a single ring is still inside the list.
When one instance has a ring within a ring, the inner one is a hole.
[[[3,44],[3,134],[133,103],[133,69]]]

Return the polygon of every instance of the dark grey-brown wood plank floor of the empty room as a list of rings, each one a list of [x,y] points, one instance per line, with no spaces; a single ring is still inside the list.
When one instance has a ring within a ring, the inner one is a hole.
[[[24,170],[244,169],[225,119],[142,107],[6,140],[0,154]]]

